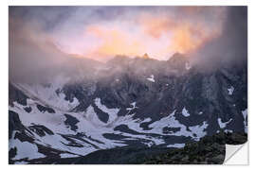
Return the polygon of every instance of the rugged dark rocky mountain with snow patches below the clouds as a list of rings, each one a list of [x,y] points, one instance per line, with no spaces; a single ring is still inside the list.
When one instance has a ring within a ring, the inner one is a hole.
[[[144,56],[72,60],[81,68],[75,79],[10,81],[9,163],[127,147],[182,150],[222,131],[227,139],[247,134],[247,65],[202,72],[182,54]]]

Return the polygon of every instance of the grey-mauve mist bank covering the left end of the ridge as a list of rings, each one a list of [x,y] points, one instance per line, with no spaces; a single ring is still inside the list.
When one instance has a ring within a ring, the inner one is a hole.
[[[94,62],[58,49],[38,23],[9,18],[9,80],[51,82],[56,78],[78,78]],[[85,74],[86,76],[86,74]]]

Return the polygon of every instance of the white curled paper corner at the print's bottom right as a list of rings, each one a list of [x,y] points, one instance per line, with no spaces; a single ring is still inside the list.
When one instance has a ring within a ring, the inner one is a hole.
[[[248,147],[246,144],[226,144],[224,164],[248,165]]]

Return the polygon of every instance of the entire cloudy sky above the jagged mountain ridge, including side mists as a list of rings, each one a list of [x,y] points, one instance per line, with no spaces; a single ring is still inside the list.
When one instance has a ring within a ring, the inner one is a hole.
[[[9,7],[9,76],[58,75],[67,58],[247,62],[247,7]],[[68,60],[68,61],[67,61]]]

